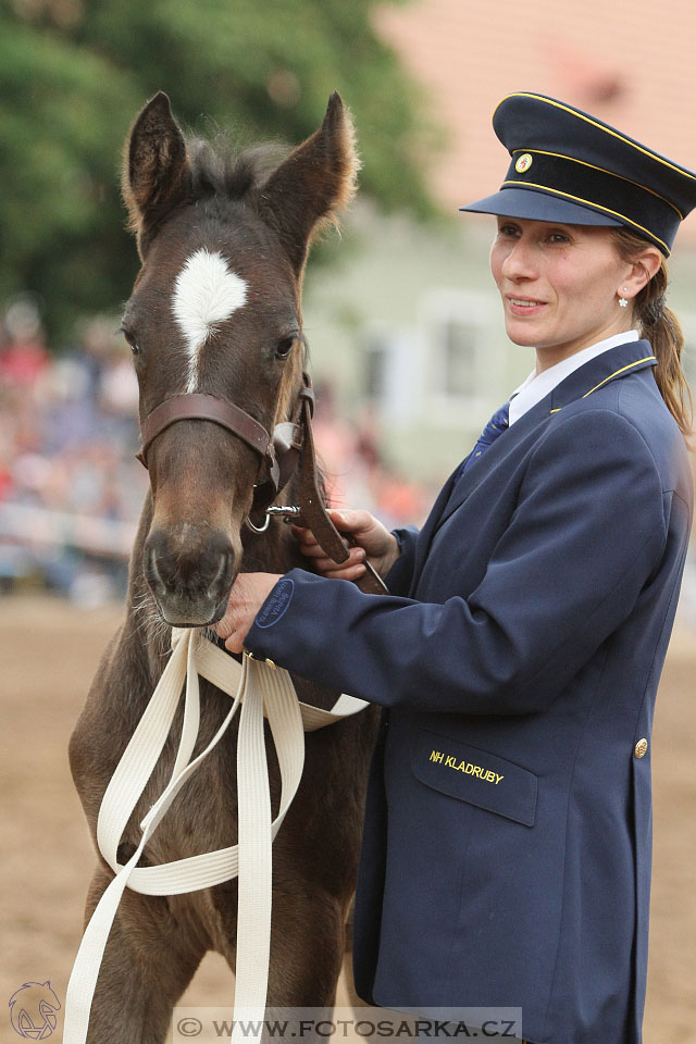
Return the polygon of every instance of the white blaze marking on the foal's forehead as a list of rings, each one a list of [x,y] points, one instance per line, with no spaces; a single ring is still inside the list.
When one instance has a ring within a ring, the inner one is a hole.
[[[186,338],[187,391],[196,390],[200,349],[246,300],[246,281],[229,270],[221,253],[210,253],[204,247],[190,256],[176,276],[172,311]]]

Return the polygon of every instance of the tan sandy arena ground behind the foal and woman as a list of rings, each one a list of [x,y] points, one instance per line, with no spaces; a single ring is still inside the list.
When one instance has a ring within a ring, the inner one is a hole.
[[[3,1042],[20,1040],[10,1026],[7,1000],[24,982],[48,979],[59,999],[65,997],[94,865],[70,778],[67,738],[119,618],[119,609],[86,611],[41,595],[0,599]],[[695,673],[696,634],[678,630],[662,676],[652,742],[655,854],[646,1044],[696,1042]],[[233,989],[226,965],[209,955],[182,1006],[225,1007]],[[338,1003],[348,1003],[346,973]],[[60,1040],[61,1027],[62,1012],[53,1040]]]

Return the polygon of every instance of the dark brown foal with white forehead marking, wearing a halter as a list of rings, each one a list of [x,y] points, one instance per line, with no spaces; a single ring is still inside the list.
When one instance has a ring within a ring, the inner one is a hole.
[[[179,417],[144,444],[150,486],[130,557],[125,619],[70,741],[95,845],[102,796],[167,661],[171,629],[201,629],[222,644],[212,629],[238,572],[283,573],[303,564],[279,518],[270,518],[263,532],[247,524],[274,470],[253,434],[297,419],[307,384],[301,288],[308,250],[352,197],[357,169],[352,123],[337,94],[315,133],[270,170],[258,149],[234,157],[185,135],[162,92],[130,129],[123,194],[141,266],[122,328],[139,382],[141,427],[163,403],[214,397],[221,409],[244,411],[247,437],[206,413]],[[297,481],[290,475],[281,505],[294,502]],[[275,488],[277,481],[271,496]],[[306,680],[294,682],[306,703],[330,708],[336,699]],[[229,706],[215,686],[200,684],[195,754]],[[274,1008],[335,1003],[376,713],[370,707],[307,736],[301,784],[273,846],[268,1003]],[[169,781],[181,728],[179,708],[123,835],[121,862],[135,853],[138,823]],[[235,843],[236,732],[233,723],[177,795],[140,866]],[[275,815],[279,773],[270,747],[268,758]],[[99,858],[86,922],[112,879]],[[236,909],[236,880],[174,896],[126,888],[99,973],[89,1042],[161,1044],[203,955],[216,950],[234,970]]]

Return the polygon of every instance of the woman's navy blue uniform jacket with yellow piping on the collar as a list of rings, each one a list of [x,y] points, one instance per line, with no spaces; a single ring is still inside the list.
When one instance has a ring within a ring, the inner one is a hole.
[[[645,340],[604,352],[450,478],[399,533],[393,595],[293,570],[247,637],[388,708],[356,905],[371,1003],[641,1041],[650,730],[692,514],[655,364]]]

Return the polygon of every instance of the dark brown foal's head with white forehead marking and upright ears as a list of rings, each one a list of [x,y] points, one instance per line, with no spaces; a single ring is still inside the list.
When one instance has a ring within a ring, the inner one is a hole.
[[[187,141],[159,94],[126,146],[124,195],[142,268],[123,318],[140,419],[182,393],[241,407],[268,432],[301,385],[300,290],[318,226],[353,191],[352,126],[333,95],[319,130],[270,176]],[[164,619],[219,620],[241,559],[260,458],[212,421],[148,449],[153,515],[144,568]]]

